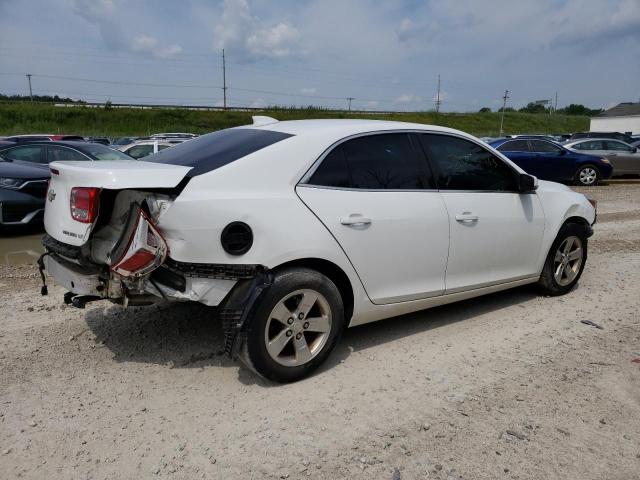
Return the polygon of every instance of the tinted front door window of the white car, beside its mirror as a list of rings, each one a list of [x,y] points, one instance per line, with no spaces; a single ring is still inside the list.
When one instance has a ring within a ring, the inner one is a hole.
[[[480,145],[447,135],[421,135],[441,190],[516,191],[516,172]]]

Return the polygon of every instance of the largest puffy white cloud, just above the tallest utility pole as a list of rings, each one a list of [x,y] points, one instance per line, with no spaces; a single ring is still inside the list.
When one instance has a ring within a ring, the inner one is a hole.
[[[251,14],[247,0],[225,0],[213,29],[213,48],[249,58],[283,58],[296,51],[300,32],[287,22],[266,25]]]

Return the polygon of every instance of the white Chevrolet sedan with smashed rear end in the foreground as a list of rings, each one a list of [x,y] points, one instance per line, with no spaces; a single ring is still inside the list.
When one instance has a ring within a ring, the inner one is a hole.
[[[217,306],[227,351],[280,382],[346,326],[524,284],[568,292],[596,218],[584,195],[420,124],[256,117],[88,163],[51,164],[39,263],[65,300]]]

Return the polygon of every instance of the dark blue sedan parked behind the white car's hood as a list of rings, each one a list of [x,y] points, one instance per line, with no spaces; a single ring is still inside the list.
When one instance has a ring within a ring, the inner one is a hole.
[[[541,180],[590,186],[609,178],[613,172],[606,158],[578,153],[549,140],[503,138],[490,145]]]

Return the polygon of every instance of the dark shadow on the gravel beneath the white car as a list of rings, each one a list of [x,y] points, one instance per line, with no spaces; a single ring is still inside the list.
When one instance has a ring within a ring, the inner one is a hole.
[[[346,361],[353,352],[470,321],[478,315],[535,297],[531,287],[520,287],[346,329],[318,373]],[[153,363],[170,368],[238,368],[238,362],[224,353],[222,325],[212,307],[198,303],[165,303],[128,309],[108,306],[89,310],[85,320],[95,334],[95,342],[108,348],[116,362]],[[245,384],[277,385],[246,368],[240,368],[238,376]]]

